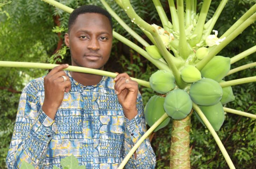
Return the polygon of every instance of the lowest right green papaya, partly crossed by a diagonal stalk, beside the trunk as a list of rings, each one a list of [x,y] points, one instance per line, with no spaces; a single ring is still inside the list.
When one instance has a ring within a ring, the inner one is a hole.
[[[213,106],[199,106],[202,110],[203,114],[206,116],[207,120],[210,122],[211,126],[213,126],[215,131],[220,130],[224,119],[224,110],[221,102],[218,102],[217,104]],[[205,126],[202,119],[199,117],[199,115],[196,113],[197,118],[199,121]]]

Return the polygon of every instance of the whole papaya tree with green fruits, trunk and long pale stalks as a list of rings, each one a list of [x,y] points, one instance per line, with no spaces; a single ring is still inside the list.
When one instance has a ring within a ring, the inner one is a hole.
[[[73,11],[72,8],[54,0],[43,1],[68,13]],[[144,46],[145,50],[115,31],[113,31],[114,38],[134,49],[159,69],[151,75],[149,82],[133,78],[140,85],[152,88],[158,95],[151,97],[146,106],[145,117],[150,126],[149,130],[135,144],[119,168],[124,167],[144,139],[153,131],[168,125],[170,119],[173,119],[170,168],[190,168],[189,131],[192,113],[195,113],[200,122],[209,129],[229,168],[235,168],[216,131],[220,130],[224,122],[225,112],[256,119],[254,114],[223,107],[224,104],[235,100],[231,86],[255,82],[256,76],[231,81],[223,79],[235,72],[256,66],[253,62],[230,70],[230,65],[254,53],[256,46],[232,58],[220,56],[218,53],[254,23],[256,4],[218,37],[218,31],[213,30],[213,27],[228,0],[220,2],[214,15],[207,22],[211,0],[204,0],[199,12],[196,0],[186,0],[186,3],[183,0],[176,0],[176,4],[174,0],[168,0],[171,19],[167,18],[160,0],[153,0],[162,27],[150,25],[140,18],[129,0],[115,0],[127,13],[131,22],[136,24],[151,41],[149,44],[122,21],[105,0],[100,1],[120,25]],[[51,69],[56,65],[0,61],[0,66]],[[69,66],[67,70],[116,76],[115,73],[74,66]]]

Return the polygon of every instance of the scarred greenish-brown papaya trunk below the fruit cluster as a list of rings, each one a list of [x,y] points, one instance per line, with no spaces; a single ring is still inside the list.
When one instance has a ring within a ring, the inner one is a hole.
[[[190,168],[189,131],[191,113],[182,120],[173,120],[171,131],[170,168]]]

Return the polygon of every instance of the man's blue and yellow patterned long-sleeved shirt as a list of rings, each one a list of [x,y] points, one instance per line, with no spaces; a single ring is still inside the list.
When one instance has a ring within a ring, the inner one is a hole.
[[[43,111],[43,77],[24,88],[6,164],[20,168],[26,161],[35,168],[60,167],[60,160],[74,155],[86,169],[116,169],[146,131],[141,95],[138,114],[128,120],[114,90],[113,78],[103,76],[93,86],[83,86],[66,71],[71,90],[65,93],[55,120]],[[148,139],[125,168],[153,169],[156,159]]]

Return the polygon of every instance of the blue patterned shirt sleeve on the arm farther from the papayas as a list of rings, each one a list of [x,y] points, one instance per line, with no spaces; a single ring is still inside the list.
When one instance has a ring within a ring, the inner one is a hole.
[[[23,161],[42,168],[48,143],[56,133],[55,121],[42,111],[36,92],[36,85],[30,82],[21,94],[6,158],[8,169],[20,168]]]

